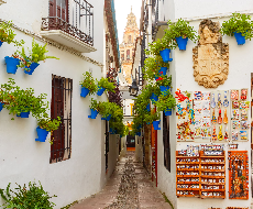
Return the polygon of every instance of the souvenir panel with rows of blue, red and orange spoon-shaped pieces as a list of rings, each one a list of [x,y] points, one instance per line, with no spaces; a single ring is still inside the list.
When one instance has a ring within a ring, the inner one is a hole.
[[[211,142],[230,140],[230,97],[229,90],[211,91]]]

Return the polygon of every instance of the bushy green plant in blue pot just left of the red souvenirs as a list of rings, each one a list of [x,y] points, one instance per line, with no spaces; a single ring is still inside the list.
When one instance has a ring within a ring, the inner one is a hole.
[[[161,95],[158,101],[155,101],[157,111],[164,111],[165,116],[172,116],[172,109],[176,107],[176,99],[173,95]]]

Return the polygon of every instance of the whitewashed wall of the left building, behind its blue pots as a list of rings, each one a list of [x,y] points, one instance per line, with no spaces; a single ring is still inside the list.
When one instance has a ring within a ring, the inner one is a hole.
[[[90,0],[95,7],[95,47],[97,52],[86,54],[95,61],[103,64],[103,1]],[[40,32],[41,20],[47,16],[48,1],[18,1],[7,0],[0,7],[0,19],[13,20],[19,28],[31,32]],[[31,47],[32,36],[15,30],[16,38],[25,41],[25,47]],[[35,40],[44,44],[40,40]],[[90,98],[99,101],[107,100],[103,96],[80,97],[79,81],[82,73],[92,69],[92,76],[100,79],[102,69],[98,65],[70,54],[69,52],[48,46],[48,55],[59,58],[47,59],[35,69],[33,75],[25,75],[20,68],[15,75],[6,72],[4,56],[11,56],[15,47],[3,43],[0,47],[0,84],[14,78],[21,88],[34,88],[35,95],[47,94],[47,100],[52,97],[52,74],[73,79],[72,99],[72,157],[67,161],[50,164],[51,145],[48,142],[35,142],[36,120],[30,116],[29,119],[15,118],[8,113],[7,109],[0,112],[0,188],[6,188],[8,183],[20,185],[31,180],[41,180],[44,189],[51,195],[57,195],[52,201],[56,209],[82,199],[101,190],[108,176],[111,174],[116,160],[119,155],[117,139],[110,139],[109,172],[106,174],[105,158],[105,131],[106,122],[101,121],[99,114],[96,120],[88,119],[90,114]],[[50,112],[48,112],[50,113]],[[48,135],[50,136],[50,135]],[[0,199],[0,205],[2,199]]]

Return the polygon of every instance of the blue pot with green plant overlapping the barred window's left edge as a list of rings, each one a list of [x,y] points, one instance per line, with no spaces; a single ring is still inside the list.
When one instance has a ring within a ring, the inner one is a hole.
[[[51,119],[51,118],[41,118],[37,120],[37,139],[35,139],[35,141],[38,142],[45,142],[46,141],[46,136],[48,134],[48,132],[53,132],[55,130],[58,129],[59,123],[62,123],[61,118],[57,117],[57,119]]]

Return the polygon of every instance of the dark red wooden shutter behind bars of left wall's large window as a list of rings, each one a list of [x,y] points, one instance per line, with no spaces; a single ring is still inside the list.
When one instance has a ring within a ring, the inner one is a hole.
[[[52,102],[51,102],[51,118],[62,119],[59,128],[53,131],[51,140],[51,161],[62,161],[65,152],[65,125],[64,125],[64,80],[62,78],[52,79]]]

